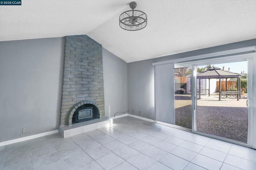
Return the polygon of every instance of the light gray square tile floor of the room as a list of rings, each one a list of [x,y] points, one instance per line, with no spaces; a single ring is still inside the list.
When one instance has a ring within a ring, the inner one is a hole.
[[[0,147],[0,170],[255,170],[256,150],[133,117]]]

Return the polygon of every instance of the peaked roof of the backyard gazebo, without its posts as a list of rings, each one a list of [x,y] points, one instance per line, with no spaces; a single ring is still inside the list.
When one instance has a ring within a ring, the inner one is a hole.
[[[205,79],[205,78],[235,78],[235,77],[240,77],[240,74],[222,70],[221,68],[218,68],[218,67],[212,67],[206,71],[198,73],[196,75],[196,77],[201,78],[201,79]]]

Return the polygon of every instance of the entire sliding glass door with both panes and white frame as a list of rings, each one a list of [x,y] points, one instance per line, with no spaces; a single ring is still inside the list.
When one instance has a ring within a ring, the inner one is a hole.
[[[175,125],[250,145],[251,58],[236,59],[224,57],[174,65]]]

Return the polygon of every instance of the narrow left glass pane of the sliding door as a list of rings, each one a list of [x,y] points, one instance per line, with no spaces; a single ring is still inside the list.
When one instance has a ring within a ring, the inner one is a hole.
[[[192,129],[191,67],[174,68],[175,125]]]

